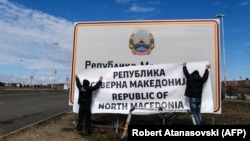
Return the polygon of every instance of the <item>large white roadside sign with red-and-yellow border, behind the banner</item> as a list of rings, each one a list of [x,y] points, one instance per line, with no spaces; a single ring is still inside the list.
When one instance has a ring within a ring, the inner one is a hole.
[[[182,62],[192,62],[190,64],[193,64],[193,69],[206,62],[212,66],[210,95],[213,113],[220,114],[219,24],[218,19],[75,23],[69,104],[73,105],[73,110],[77,112],[78,89],[75,85],[75,74],[82,76],[82,79],[87,77],[91,82],[96,82],[101,72],[116,74],[121,72],[122,67],[131,67],[132,72],[136,72],[141,68],[134,70],[133,66],[159,65],[157,68],[161,70],[160,64],[169,64],[168,70],[173,67],[179,71],[181,66],[176,65]],[[99,74],[91,74],[97,69],[100,70]],[[105,93],[104,89],[101,88],[101,95]],[[99,98],[104,100],[101,95]],[[109,97],[108,95],[106,97]],[[96,100],[98,96],[94,98]],[[113,113],[112,110],[94,111]],[[114,113],[120,112],[116,110]]]

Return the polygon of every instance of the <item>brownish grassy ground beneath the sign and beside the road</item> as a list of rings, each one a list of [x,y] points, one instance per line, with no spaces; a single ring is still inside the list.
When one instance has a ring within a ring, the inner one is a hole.
[[[250,101],[222,102],[221,114],[202,114],[203,125],[250,125]],[[126,115],[96,114],[92,116],[93,133],[91,136],[79,136],[73,121],[72,112],[54,117],[31,126],[5,138],[3,141],[121,141]],[[115,127],[118,125],[118,128]],[[139,116],[132,115],[130,125],[192,125],[190,115],[162,114]],[[1,139],[0,139],[1,140]],[[1,140],[1,141],[2,141]]]

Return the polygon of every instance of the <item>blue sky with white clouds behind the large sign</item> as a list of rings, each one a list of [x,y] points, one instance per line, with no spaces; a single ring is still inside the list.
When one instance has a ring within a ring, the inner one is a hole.
[[[31,76],[37,84],[66,82],[74,22],[215,19],[217,14],[225,15],[227,80],[250,78],[250,0],[0,0],[0,13],[2,82],[30,84]]]

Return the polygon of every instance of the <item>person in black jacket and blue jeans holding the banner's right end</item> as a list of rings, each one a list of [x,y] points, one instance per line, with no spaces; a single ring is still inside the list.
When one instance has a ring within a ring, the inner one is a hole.
[[[195,119],[195,125],[201,124],[201,98],[203,84],[207,81],[210,64],[206,64],[205,72],[201,77],[198,70],[194,70],[191,74],[188,72],[186,62],[183,63],[183,73],[186,76],[187,83],[185,89],[185,96],[189,97],[190,110]]]

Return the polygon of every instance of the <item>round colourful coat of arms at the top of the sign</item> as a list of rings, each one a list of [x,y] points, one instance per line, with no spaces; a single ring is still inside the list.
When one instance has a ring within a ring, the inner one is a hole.
[[[129,48],[134,55],[149,55],[154,47],[154,36],[147,29],[137,29],[130,36]]]

